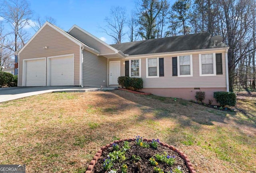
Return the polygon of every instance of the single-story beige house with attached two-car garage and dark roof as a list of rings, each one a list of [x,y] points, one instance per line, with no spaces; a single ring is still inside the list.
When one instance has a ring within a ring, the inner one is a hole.
[[[18,86],[118,86],[119,76],[141,77],[145,92],[195,99],[228,91],[228,47],[207,32],[108,45],[74,25],[46,22],[20,49]]]

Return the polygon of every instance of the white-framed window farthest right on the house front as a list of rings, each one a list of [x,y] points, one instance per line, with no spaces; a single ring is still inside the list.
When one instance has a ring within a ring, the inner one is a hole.
[[[200,76],[216,76],[215,54],[199,54]]]

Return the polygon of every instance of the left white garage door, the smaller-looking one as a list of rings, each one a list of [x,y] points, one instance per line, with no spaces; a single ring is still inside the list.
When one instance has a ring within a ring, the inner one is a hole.
[[[45,59],[26,61],[26,86],[45,86]]]

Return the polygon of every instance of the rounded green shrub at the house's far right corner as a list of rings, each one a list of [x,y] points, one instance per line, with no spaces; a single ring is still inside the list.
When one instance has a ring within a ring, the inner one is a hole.
[[[220,106],[225,105],[234,106],[236,105],[236,94],[233,92],[218,91],[213,93],[213,97],[216,99]]]

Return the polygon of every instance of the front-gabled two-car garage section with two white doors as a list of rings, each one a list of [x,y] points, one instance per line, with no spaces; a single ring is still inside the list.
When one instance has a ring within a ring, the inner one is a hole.
[[[83,46],[86,45],[46,22],[18,51],[18,86],[82,85]]]

